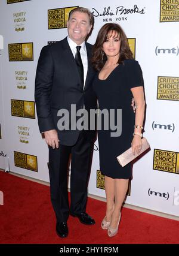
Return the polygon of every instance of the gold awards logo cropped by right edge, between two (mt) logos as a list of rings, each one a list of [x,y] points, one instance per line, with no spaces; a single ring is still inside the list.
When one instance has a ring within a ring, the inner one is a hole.
[[[157,100],[179,101],[179,77],[158,77]]]

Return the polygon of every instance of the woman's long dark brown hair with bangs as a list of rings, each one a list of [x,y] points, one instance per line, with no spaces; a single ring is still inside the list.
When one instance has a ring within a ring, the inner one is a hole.
[[[92,47],[91,64],[95,70],[101,70],[107,60],[106,54],[103,52],[103,43],[106,42],[109,33],[113,31],[119,35],[121,41],[118,63],[122,63],[125,59],[133,59],[128,40],[121,26],[116,23],[106,23],[98,32],[97,39]],[[110,33],[110,36],[112,36],[112,34],[113,33]]]

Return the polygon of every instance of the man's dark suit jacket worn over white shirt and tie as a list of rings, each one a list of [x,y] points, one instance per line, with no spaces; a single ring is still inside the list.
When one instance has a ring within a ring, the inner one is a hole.
[[[84,89],[81,85],[75,58],[67,42],[67,38],[57,43],[44,46],[39,56],[35,79],[35,102],[40,132],[57,129],[60,143],[72,146],[76,143],[79,130],[59,131],[57,112],[76,104],[76,111],[96,109],[97,98],[92,89],[95,71],[91,67],[91,44],[85,43],[88,56],[88,71]],[[95,131],[87,131],[92,140]]]

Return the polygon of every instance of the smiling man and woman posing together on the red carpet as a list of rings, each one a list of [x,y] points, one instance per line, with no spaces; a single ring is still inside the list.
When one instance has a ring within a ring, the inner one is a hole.
[[[131,146],[140,152],[144,119],[143,77],[140,65],[132,58],[126,35],[114,23],[105,24],[92,47],[87,43],[94,17],[87,8],[75,8],[67,22],[68,36],[42,48],[35,81],[35,102],[39,129],[49,147],[51,202],[57,218],[58,236],[69,233],[67,219],[72,215],[82,224],[93,225],[86,212],[95,131],[57,128],[60,109],[70,113],[85,109],[122,109],[122,134],[111,137],[110,129],[98,131],[100,170],[105,176],[106,214],[101,228],[109,236],[118,233],[121,206],[132,176],[131,164],[121,167],[116,159]],[[131,99],[135,101],[135,113]],[[72,113],[70,113],[71,115]],[[116,118],[116,116],[115,116]],[[72,154],[70,206],[67,194],[67,169]]]

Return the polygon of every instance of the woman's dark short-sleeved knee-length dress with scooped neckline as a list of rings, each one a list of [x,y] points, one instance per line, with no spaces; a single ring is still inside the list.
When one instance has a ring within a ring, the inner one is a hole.
[[[115,122],[112,115],[109,115],[109,129],[106,130],[104,126],[103,115],[101,115],[101,128],[98,129],[100,170],[104,175],[113,179],[129,179],[132,177],[131,163],[121,167],[116,157],[131,147],[135,124],[135,113],[131,107],[131,88],[137,86],[143,86],[143,76],[140,65],[134,59],[127,59],[124,63],[119,64],[107,79],[100,80],[98,73],[94,79],[93,88],[97,94],[99,109],[115,112]],[[122,110],[122,122],[119,117],[120,112],[117,112],[117,109]],[[117,116],[120,124],[117,122]],[[121,125],[122,133],[120,136],[111,136],[111,132],[115,131],[110,122],[113,122],[113,125],[118,124],[118,131]]]

